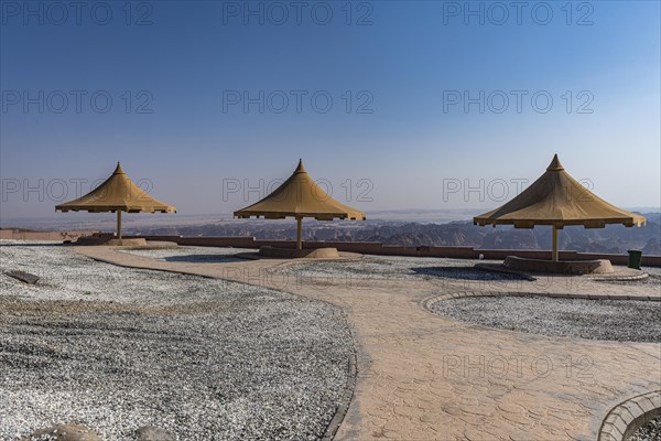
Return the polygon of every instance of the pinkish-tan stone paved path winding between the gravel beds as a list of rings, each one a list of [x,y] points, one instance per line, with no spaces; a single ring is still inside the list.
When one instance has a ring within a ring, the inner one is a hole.
[[[421,306],[431,295],[467,290],[661,297],[653,287],[563,277],[301,281],[270,276],[281,260],[166,262],[109,247],[76,249],[115,265],[279,288],[343,308],[357,338],[358,379],[337,440],[595,440],[611,408],[661,389],[661,344],[499,331]]]

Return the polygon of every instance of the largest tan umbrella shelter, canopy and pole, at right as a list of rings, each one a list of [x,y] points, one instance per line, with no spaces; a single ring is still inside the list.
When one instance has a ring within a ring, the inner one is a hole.
[[[646,224],[646,218],[611,205],[572,178],[557,154],[540,179],[513,200],[473,218],[475,225],[513,225],[514,228],[553,227],[552,260],[557,261],[557,230],[565,225],[604,228],[606,224],[627,227]]]

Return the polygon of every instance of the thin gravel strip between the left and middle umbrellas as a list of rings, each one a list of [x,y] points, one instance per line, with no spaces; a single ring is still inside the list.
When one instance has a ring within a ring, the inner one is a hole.
[[[184,261],[184,262],[232,262],[245,261],[245,259],[235,257],[239,252],[254,252],[250,248],[228,248],[228,247],[187,247],[165,249],[123,249],[127,252],[137,256],[149,257],[164,261]]]

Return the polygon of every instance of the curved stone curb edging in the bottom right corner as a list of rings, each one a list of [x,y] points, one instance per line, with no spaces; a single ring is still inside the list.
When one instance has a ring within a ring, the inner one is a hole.
[[[661,390],[654,390],[619,404],[610,409],[597,441],[626,441],[649,421],[661,417]]]

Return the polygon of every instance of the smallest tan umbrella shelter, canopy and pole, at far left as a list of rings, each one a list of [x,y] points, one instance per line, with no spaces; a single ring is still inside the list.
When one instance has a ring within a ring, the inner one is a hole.
[[[117,212],[117,236],[121,239],[121,212],[176,213],[176,208],[150,196],[121,169],[119,162],[112,175],[85,196],[55,206],[56,211],[106,213]]]

